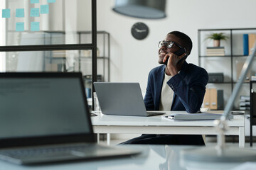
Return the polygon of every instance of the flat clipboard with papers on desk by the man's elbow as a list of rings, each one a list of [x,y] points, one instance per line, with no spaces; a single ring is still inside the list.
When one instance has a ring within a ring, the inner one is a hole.
[[[165,118],[171,120],[215,120],[220,119],[223,114],[215,113],[172,113],[166,115]],[[228,115],[228,119],[232,119],[233,115]]]

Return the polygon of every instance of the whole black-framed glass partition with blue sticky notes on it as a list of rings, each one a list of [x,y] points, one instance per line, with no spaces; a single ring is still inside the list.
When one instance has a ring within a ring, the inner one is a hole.
[[[6,0],[1,14],[4,72],[78,72],[78,54],[88,50],[83,74],[97,81],[96,0]],[[85,43],[80,31],[90,33]]]

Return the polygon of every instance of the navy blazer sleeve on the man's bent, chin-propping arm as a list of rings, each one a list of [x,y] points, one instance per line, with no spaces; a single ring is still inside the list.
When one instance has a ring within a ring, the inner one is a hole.
[[[176,74],[167,84],[173,89],[188,113],[196,113],[200,110],[203,97],[208,84],[208,73],[205,69],[189,73],[186,77]]]

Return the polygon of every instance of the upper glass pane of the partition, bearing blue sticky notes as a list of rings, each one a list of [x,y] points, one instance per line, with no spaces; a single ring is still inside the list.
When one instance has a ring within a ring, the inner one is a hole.
[[[6,45],[78,44],[78,32],[92,30],[91,0],[6,0],[1,12]]]

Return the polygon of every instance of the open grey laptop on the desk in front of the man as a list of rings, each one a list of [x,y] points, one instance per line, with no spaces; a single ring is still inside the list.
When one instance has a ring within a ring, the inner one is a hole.
[[[105,115],[162,115],[146,111],[139,83],[94,82],[100,108]]]

